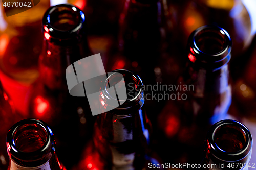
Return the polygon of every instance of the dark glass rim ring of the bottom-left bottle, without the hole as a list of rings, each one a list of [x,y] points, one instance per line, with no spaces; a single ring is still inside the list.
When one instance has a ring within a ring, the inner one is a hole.
[[[16,147],[16,144],[14,142],[16,131],[18,130],[18,128],[21,128],[26,124],[36,124],[44,128],[47,134],[46,142],[44,143],[44,145],[42,145],[40,149],[33,152],[20,151]],[[17,164],[24,161],[28,161],[31,164],[33,164],[32,162],[40,161],[40,164],[44,164],[48,161],[48,159],[45,159],[45,158],[49,155],[51,150],[55,151],[55,141],[54,141],[54,135],[52,133],[52,130],[49,128],[49,126],[45,122],[42,122],[41,120],[38,120],[38,119],[24,119],[14,124],[7,133],[6,145],[7,145],[8,155]],[[29,165],[30,163],[28,163],[28,165],[26,166],[30,166]]]

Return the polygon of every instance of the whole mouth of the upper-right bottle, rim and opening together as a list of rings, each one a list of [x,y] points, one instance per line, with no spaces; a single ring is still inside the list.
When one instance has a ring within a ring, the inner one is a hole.
[[[188,39],[188,58],[191,62],[218,69],[231,58],[232,41],[226,30],[218,26],[202,26]]]

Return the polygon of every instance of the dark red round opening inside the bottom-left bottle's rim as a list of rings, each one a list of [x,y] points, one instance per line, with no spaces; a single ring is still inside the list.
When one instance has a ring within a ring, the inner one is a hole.
[[[41,149],[47,140],[47,132],[37,124],[25,124],[14,132],[16,148],[22,152],[34,152]]]

